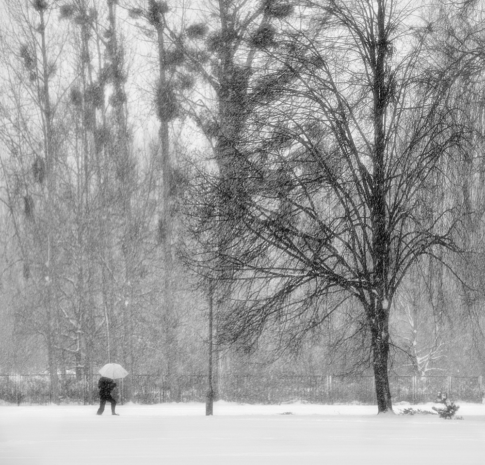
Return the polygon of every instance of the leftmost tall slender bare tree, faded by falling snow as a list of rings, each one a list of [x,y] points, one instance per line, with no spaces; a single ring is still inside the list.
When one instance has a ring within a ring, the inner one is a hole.
[[[13,157],[8,166],[2,166],[5,201],[14,221],[24,276],[32,276],[32,285],[41,296],[34,307],[39,310],[24,316],[45,338],[52,398],[58,402],[58,299],[63,264],[56,199],[63,133],[56,97],[63,87],[58,58],[65,32],[52,23],[54,12],[46,1],[8,2],[6,7],[10,24],[2,49],[3,78],[12,92],[2,102],[2,140]],[[18,215],[20,203],[24,218]]]

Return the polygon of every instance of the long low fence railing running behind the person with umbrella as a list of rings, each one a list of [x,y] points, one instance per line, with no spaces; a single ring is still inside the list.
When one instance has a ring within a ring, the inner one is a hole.
[[[76,375],[59,376],[59,401],[63,404],[92,404],[98,400],[97,380]],[[482,376],[419,377],[391,376],[393,402],[434,401],[438,391],[456,401],[482,402]],[[132,375],[118,381],[113,394],[120,403],[205,401],[207,377],[182,375]],[[374,379],[332,375],[223,375],[217,379],[217,398],[246,403],[375,403]],[[49,375],[0,375],[0,405],[48,404],[53,401]]]

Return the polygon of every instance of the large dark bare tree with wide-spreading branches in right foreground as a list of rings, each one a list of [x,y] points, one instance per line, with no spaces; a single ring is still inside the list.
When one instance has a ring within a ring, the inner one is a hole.
[[[206,178],[227,201],[220,228],[238,216],[224,255],[239,285],[221,339],[251,345],[268,327],[294,339],[354,299],[379,413],[392,410],[395,292],[420,257],[457,251],[453,205],[425,214],[423,193],[470,132],[451,98],[462,70],[433,60],[433,28],[411,13],[384,0],[306,3],[249,84],[257,103],[227,177],[242,188],[228,195]]]

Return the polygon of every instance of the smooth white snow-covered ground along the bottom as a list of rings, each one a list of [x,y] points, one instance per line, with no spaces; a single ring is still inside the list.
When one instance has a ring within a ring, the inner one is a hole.
[[[4,406],[0,465],[485,464],[485,405],[460,406],[463,420],[301,403],[216,402],[213,417],[201,403],[119,405],[119,417],[109,404],[103,416],[96,406]]]

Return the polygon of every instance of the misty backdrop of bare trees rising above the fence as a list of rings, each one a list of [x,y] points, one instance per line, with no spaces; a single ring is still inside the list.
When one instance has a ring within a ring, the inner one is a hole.
[[[4,0],[0,369],[481,373],[483,6]]]

